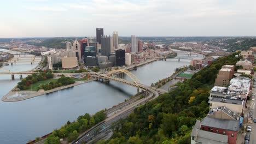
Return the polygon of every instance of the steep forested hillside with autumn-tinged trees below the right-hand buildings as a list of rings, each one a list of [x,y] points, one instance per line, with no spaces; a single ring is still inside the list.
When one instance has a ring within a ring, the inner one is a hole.
[[[112,139],[98,143],[190,143],[196,119],[205,117],[209,111],[208,92],[218,70],[222,65],[235,64],[240,59],[235,54],[219,58],[190,80],[178,83],[174,91],[137,107],[113,126]]]

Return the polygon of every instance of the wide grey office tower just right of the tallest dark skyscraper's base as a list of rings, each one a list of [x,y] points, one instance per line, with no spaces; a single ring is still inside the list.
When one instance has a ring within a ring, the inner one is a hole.
[[[101,37],[101,55],[102,56],[110,56],[111,52],[111,44],[110,44],[110,36],[104,35]]]

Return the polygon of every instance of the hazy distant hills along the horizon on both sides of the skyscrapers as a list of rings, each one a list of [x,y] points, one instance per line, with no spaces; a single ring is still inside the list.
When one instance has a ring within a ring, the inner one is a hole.
[[[77,37],[78,40],[84,37]],[[248,50],[249,47],[256,46],[256,37],[137,37],[143,42],[155,44],[171,44],[184,42],[202,42],[212,46],[218,46],[228,51]],[[8,43],[11,40],[24,40],[27,44],[45,46],[54,49],[65,49],[66,43],[71,42],[75,37],[63,38],[7,38],[1,39],[0,43]],[[120,44],[130,44],[131,37],[119,37]]]

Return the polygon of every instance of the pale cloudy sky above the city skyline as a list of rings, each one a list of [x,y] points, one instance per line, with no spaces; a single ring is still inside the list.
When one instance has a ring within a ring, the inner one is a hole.
[[[0,38],[255,36],[255,0],[1,0]]]

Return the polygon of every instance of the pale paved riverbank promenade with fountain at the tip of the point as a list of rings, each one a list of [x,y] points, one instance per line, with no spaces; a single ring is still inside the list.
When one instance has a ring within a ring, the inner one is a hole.
[[[90,80],[86,80],[86,81],[75,81],[75,83],[73,83],[71,85],[57,87],[54,89],[50,89],[49,91],[41,91],[41,92],[36,92],[36,91],[19,91],[18,92],[18,91],[13,91],[14,89],[12,89],[9,93],[4,95],[4,97],[2,98],[2,101],[14,102],[14,101],[26,100],[26,99],[38,97],[39,95],[48,94],[48,93],[52,93],[55,91],[60,91],[61,89],[82,85],[83,83],[88,83],[88,82],[95,81],[95,80],[96,79],[90,79]]]

